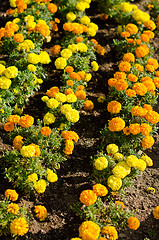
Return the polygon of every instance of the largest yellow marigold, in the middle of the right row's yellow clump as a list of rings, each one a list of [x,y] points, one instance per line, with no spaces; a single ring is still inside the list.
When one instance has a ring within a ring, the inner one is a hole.
[[[116,166],[113,168],[112,173],[114,176],[119,178],[125,178],[127,175],[129,175],[131,172],[131,167],[125,162],[119,162],[116,164]]]

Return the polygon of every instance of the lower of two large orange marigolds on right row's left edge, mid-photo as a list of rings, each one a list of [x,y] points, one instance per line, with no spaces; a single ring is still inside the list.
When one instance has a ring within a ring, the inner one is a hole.
[[[111,132],[121,131],[125,127],[125,121],[120,117],[112,118],[108,127]]]

